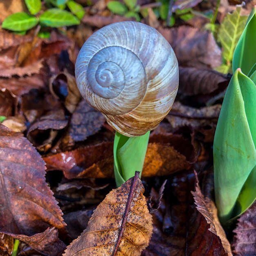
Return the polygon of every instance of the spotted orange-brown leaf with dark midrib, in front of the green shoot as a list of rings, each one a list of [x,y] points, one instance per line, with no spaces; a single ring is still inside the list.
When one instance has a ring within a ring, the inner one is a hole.
[[[69,245],[65,256],[139,256],[152,234],[139,172],[112,190],[94,210],[85,231]]]

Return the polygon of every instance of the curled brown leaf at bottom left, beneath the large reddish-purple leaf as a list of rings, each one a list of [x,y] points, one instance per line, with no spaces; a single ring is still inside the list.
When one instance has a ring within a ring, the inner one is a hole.
[[[44,256],[61,256],[66,248],[66,245],[58,238],[58,229],[55,227],[48,227],[43,233],[33,236],[16,235],[8,232],[6,234],[26,243]]]

